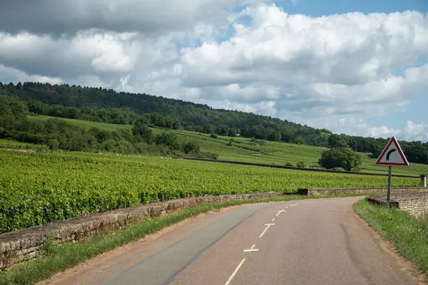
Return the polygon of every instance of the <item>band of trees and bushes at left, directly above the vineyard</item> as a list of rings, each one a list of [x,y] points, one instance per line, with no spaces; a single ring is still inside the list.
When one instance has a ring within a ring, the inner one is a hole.
[[[121,154],[191,155],[217,158],[209,152],[200,152],[193,141],[180,142],[173,133],[153,134],[143,117],[132,130],[86,130],[60,119],[28,120],[27,105],[14,98],[0,95],[0,138],[43,144],[49,150],[86,152],[115,152]]]

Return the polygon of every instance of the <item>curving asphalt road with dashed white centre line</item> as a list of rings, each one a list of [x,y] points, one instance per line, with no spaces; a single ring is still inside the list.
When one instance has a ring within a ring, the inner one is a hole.
[[[206,214],[41,284],[424,284],[355,215],[357,199]]]

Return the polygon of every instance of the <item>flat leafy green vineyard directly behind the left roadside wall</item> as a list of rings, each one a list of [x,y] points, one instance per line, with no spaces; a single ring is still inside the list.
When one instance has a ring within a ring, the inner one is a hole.
[[[0,232],[193,195],[386,184],[377,176],[83,152],[0,150],[0,165]],[[412,187],[419,180],[394,177],[393,182]]]

